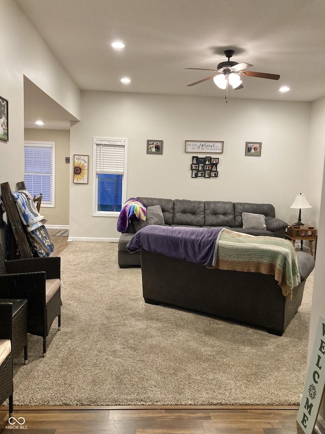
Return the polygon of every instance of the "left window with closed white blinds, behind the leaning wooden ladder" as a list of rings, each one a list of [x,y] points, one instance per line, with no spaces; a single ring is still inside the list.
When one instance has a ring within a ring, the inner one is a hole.
[[[24,182],[33,196],[43,194],[42,206],[54,207],[54,142],[25,141]]]

